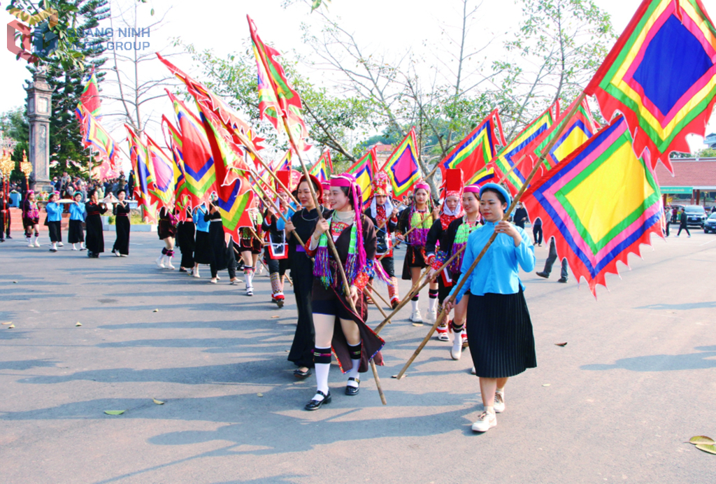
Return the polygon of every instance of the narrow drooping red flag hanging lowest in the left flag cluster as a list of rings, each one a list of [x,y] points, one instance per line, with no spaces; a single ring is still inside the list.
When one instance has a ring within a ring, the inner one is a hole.
[[[218,198],[214,203],[221,214],[224,233],[229,234],[233,241],[238,243],[239,228],[252,226],[251,218],[248,216],[248,208],[251,207],[253,201],[251,184],[243,176],[243,172],[230,173],[231,169],[228,163],[233,163],[232,160],[236,158],[236,153],[233,152],[233,148],[228,145],[221,133],[223,126],[218,115],[201,102],[197,102],[197,106],[211,147],[216,170],[214,186]]]

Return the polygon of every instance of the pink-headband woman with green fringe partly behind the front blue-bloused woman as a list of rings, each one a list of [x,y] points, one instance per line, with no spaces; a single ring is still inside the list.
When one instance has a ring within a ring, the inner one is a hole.
[[[462,195],[462,206],[465,210],[465,215],[456,218],[450,223],[448,229],[442,234],[440,239],[440,250],[437,251],[435,261],[432,263],[432,269],[430,270],[430,277],[435,276],[438,268],[447,262],[450,258],[455,256],[465,245],[468,243],[470,233],[473,233],[476,228],[480,226],[480,185],[469,185],[463,189]],[[450,265],[445,268],[448,272],[448,278],[455,284],[460,279],[460,271],[463,266],[463,257],[465,252],[460,253]],[[442,276],[438,276],[442,277]],[[450,286],[447,286],[444,297],[448,297],[450,293]],[[460,304],[455,306],[455,319],[450,321],[450,329],[453,331],[453,348],[450,349],[450,357],[455,360],[460,359],[463,353],[463,347],[468,343],[468,333],[465,331],[465,314],[468,311],[468,299],[463,298]],[[442,304],[442,299],[440,304]],[[447,320],[447,318],[445,318]],[[440,331],[440,326],[437,326],[437,331]],[[450,341],[448,337],[448,326],[446,325],[443,329],[445,339],[439,338],[441,341]]]

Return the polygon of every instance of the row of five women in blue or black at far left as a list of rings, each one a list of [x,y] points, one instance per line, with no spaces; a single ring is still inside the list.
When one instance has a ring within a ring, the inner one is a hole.
[[[87,201],[82,202],[82,193],[77,192],[72,199],[60,200],[59,192],[49,195],[44,225],[47,226],[50,241],[50,252],[59,251],[62,243],[62,214],[69,212],[69,228],[67,242],[72,244],[73,251],[87,251],[89,258],[99,258],[105,251],[105,236],[102,229],[102,215],[112,207],[115,216],[117,238],[112,253],[117,257],[127,257],[130,245],[130,206],[126,200],[127,193],[120,190],[117,200],[113,203],[100,202],[97,190],[89,190]],[[22,225],[28,247],[40,247],[40,205],[30,190],[22,203]],[[83,228],[84,225],[84,228]],[[86,234],[85,234],[86,231]]]

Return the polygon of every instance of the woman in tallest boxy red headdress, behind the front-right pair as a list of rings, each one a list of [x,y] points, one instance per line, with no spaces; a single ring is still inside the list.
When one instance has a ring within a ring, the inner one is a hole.
[[[455,221],[456,218],[463,216],[463,203],[461,198],[463,197],[463,170],[449,169],[445,173],[445,185],[442,193],[442,207],[440,208],[440,218],[438,218],[430,227],[430,231],[427,233],[427,239],[425,241],[425,255],[427,256],[427,263],[434,269],[442,266],[442,261],[439,258],[435,258],[437,253],[440,253],[442,236],[445,235],[445,231],[448,230],[450,223]],[[447,259],[445,259],[447,260]],[[435,278],[435,271],[430,271],[430,279]],[[438,307],[442,306],[442,301],[450,294],[450,288],[453,286],[453,280],[450,279],[450,273],[443,271],[441,274],[437,274],[437,304]],[[428,320],[435,321],[437,318],[437,311],[435,314],[428,314]],[[440,341],[450,341],[448,337],[448,324],[447,319],[443,321],[442,326],[437,326],[437,339]],[[468,340],[465,339],[465,344]]]

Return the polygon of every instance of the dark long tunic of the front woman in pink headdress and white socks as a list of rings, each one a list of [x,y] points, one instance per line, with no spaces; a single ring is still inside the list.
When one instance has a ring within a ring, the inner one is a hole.
[[[361,223],[363,226],[363,243],[365,247],[365,257],[366,261],[374,261],[375,260],[375,252],[377,248],[377,237],[375,235],[375,226],[373,225],[372,221],[367,216],[361,215]],[[341,235],[338,236],[337,241],[335,243],[336,249],[338,251],[338,255],[340,257],[339,263],[342,263],[345,267],[345,261],[348,258],[348,251],[351,241],[351,229],[352,226],[347,227],[344,231],[342,231]],[[305,242],[305,241],[304,241]],[[335,264],[335,259],[333,257],[332,251],[329,250],[329,262],[331,263],[331,266],[333,267]],[[334,269],[333,274],[334,280],[340,281],[338,286],[342,288],[342,281],[341,281],[341,275],[338,271],[338,268],[336,267]],[[336,289],[334,287],[329,287],[326,289],[326,287],[321,283],[320,279],[314,278],[314,284],[313,284],[313,291],[311,294],[311,299],[313,301],[326,301],[329,299],[338,299],[339,303],[344,306],[344,308],[348,309],[348,311],[351,311],[350,304],[348,303],[345,294],[342,289]],[[383,357],[380,353],[380,349],[384,346],[385,342],[384,340],[379,337],[375,332],[369,328],[367,324],[365,324],[365,321],[368,316],[368,299],[365,295],[365,293],[362,293],[360,297],[358,298],[358,303],[356,304],[356,310],[358,311],[358,314],[352,314],[353,321],[358,325],[358,329],[360,331],[361,339],[363,342],[362,347],[362,354],[361,354],[361,362],[359,365],[358,371],[361,373],[367,372],[369,369],[369,361],[370,359],[374,359],[375,364],[382,365],[383,364]],[[334,353],[336,354],[336,357],[338,359],[338,364],[341,367],[341,370],[345,373],[348,372],[350,369],[353,368],[353,363],[351,362],[351,356],[348,349],[348,342],[346,340],[345,335],[343,334],[343,329],[341,327],[339,318],[336,317],[336,324],[333,331],[333,340],[331,344]]]

